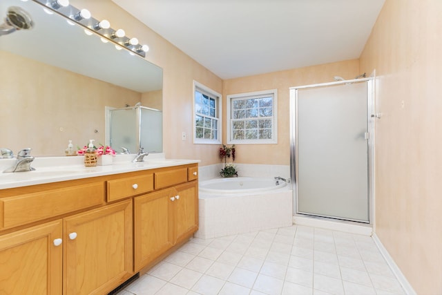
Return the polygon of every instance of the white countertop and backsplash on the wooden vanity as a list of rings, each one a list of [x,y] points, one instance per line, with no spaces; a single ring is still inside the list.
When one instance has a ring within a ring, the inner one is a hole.
[[[28,185],[76,180],[96,176],[127,173],[169,166],[194,164],[199,160],[165,159],[163,153],[149,154],[144,162],[131,162],[136,155],[116,155],[113,164],[106,166],[84,166],[83,156],[35,158],[31,166],[35,171],[2,173],[15,163],[15,159],[0,160],[0,189],[26,187]],[[0,191],[1,196],[1,191]]]

